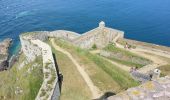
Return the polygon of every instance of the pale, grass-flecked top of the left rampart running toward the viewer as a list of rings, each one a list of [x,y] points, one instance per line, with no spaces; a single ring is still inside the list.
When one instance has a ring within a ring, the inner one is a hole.
[[[43,83],[41,85],[41,88],[39,89],[38,95],[36,97],[36,100],[56,100],[59,98],[60,92],[59,92],[59,84],[58,84],[58,74],[56,70],[55,61],[53,58],[53,53],[51,50],[51,47],[42,42],[41,40],[31,40],[31,43],[37,45],[38,48],[40,48],[42,59],[43,59]],[[51,73],[48,76],[46,76],[47,73]],[[52,82],[48,84],[49,81]],[[55,88],[56,87],[56,88]],[[41,95],[42,92],[45,91],[45,95]],[[53,92],[57,92],[55,94],[55,99],[53,99]]]

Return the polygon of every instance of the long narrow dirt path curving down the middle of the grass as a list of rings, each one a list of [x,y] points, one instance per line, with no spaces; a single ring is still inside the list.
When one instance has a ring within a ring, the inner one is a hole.
[[[70,60],[73,62],[73,64],[76,65],[77,70],[80,72],[81,76],[83,77],[83,79],[85,80],[86,84],[88,85],[91,93],[92,93],[92,98],[96,99],[98,97],[100,97],[100,90],[93,84],[92,80],[90,79],[90,77],[88,76],[88,74],[85,72],[85,70],[83,69],[83,67],[80,66],[80,64],[73,58],[73,56],[67,52],[66,50],[62,49],[61,47],[57,46],[54,42],[54,39],[50,39],[52,46],[57,50],[60,51],[62,53],[64,53],[65,55],[67,55]]]

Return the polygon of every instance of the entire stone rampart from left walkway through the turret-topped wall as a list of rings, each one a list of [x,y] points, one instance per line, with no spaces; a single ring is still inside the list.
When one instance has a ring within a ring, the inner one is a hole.
[[[65,30],[57,30],[52,32],[48,32],[48,31],[29,32],[20,35],[20,42],[21,42],[22,51],[26,56],[27,62],[32,62],[36,59],[37,56],[42,56],[43,73],[45,74],[45,72],[48,71],[48,69],[45,69],[48,61],[52,62],[52,64],[50,64],[49,67],[55,68],[55,64],[53,63],[54,59],[52,56],[51,48],[49,47],[48,44],[44,43],[44,41],[46,41],[49,37],[62,38],[82,48],[91,48],[94,44],[96,44],[98,48],[102,48],[106,46],[108,43],[113,42],[118,38],[123,38],[123,36],[124,36],[124,32],[107,28],[105,27],[104,22],[100,22],[99,27],[89,32],[86,32],[83,35],[71,31],[65,31]],[[56,74],[59,73],[56,72]],[[56,85],[58,85],[57,80],[58,77],[56,76]],[[48,79],[44,78],[43,84],[36,97],[36,100],[43,99],[43,97],[41,97],[40,94],[41,94],[41,90],[47,87],[46,86],[47,81]],[[56,87],[56,85],[53,85],[53,89]],[[51,95],[51,93],[52,93],[51,91],[48,92],[48,95],[50,97],[46,98],[46,100],[52,99],[53,96]],[[57,96],[59,96],[59,94]]]

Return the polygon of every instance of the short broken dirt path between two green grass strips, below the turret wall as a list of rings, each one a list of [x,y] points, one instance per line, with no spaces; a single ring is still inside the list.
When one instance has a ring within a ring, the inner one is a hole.
[[[100,53],[101,50],[92,50],[90,51],[90,53],[92,54],[97,54],[97,53]],[[103,59],[107,60],[108,62],[112,63],[113,65],[116,65],[117,67],[121,68],[122,70],[125,70],[125,71],[130,71],[130,66],[127,66],[127,65],[123,65],[123,64],[120,64],[120,63],[117,63],[115,61],[112,61],[108,58],[105,58],[105,57],[102,57]]]

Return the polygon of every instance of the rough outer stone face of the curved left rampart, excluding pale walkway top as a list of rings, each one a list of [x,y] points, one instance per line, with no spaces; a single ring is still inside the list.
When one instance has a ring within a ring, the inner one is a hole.
[[[63,30],[53,32],[34,32],[20,35],[20,42],[22,51],[26,55],[27,61],[31,62],[34,61],[37,56],[41,55],[41,50],[39,47],[37,47],[37,45],[33,44],[31,40],[38,39],[45,41],[48,39],[48,37],[56,37],[71,41],[78,36],[78,33]]]

